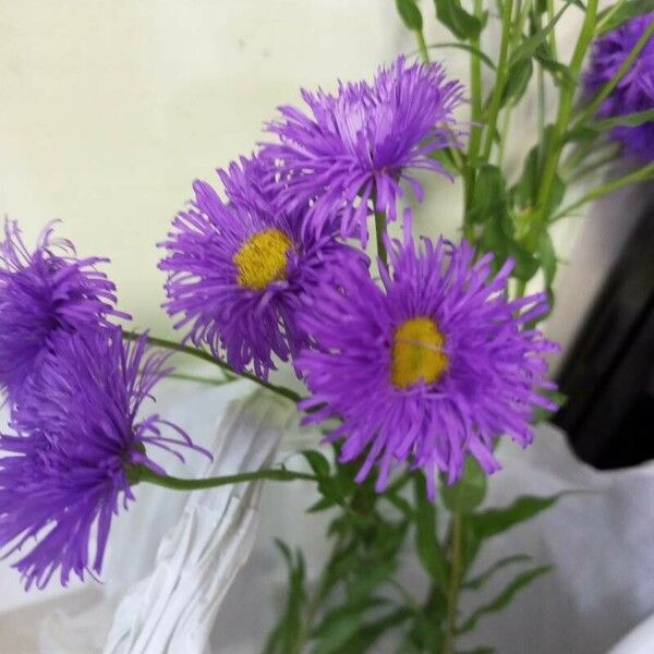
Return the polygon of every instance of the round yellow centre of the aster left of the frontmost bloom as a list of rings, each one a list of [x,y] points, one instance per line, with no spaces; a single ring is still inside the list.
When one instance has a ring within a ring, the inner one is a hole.
[[[278,229],[252,234],[233,257],[239,286],[262,291],[270,282],[286,279],[287,253],[291,245],[291,240]]]

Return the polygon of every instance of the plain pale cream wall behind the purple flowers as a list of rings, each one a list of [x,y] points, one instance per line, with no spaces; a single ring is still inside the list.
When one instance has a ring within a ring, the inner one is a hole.
[[[451,40],[423,8],[427,40]],[[136,324],[169,332],[155,243],[191,181],[250,153],[300,86],[370,76],[413,49],[392,0],[0,0],[0,215],[19,219],[28,243],[63,219],[59,233],[81,254],[112,258]],[[460,53],[438,57],[465,80]],[[514,120],[516,159],[533,145],[532,120],[529,108]],[[562,271],[548,325],[564,342],[635,216],[629,197],[593,209],[573,252],[581,219],[557,230],[564,258],[580,262]],[[630,207],[617,220],[616,203]],[[460,185],[432,178],[422,231],[455,237],[459,215]],[[7,565],[0,588],[0,610],[29,601]]]

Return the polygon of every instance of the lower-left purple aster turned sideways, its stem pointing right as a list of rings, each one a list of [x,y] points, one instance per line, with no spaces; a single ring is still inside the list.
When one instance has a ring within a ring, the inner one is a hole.
[[[134,499],[129,467],[164,473],[146,446],[198,449],[158,415],[137,419],[169,372],[146,340],[125,346],[118,328],[59,334],[14,411],[17,435],[0,436],[0,547],[31,545],[14,565],[26,588],[44,588],[57,570],[62,585],[71,573],[100,572],[111,519]]]

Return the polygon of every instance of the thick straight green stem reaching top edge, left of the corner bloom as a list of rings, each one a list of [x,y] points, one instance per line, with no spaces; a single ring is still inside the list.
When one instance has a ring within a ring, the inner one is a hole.
[[[570,80],[561,81],[561,94],[556,122],[554,124],[553,137],[550,138],[549,147],[547,148],[548,152],[545,155],[541,187],[536,198],[536,210],[534,211],[534,221],[528,234],[526,245],[530,250],[534,250],[538,234],[548,218],[547,211],[550,203],[552,190],[554,187],[554,181],[556,179],[558,164],[564,148],[564,134],[568,129],[572,113],[572,100],[577,89],[577,80],[579,80],[585,53],[593,39],[597,2],[598,0],[589,0],[588,2],[581,33],[570,61]]]

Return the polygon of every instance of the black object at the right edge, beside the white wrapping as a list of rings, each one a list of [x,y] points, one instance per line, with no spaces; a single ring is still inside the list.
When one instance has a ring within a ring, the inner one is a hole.
[[[637,225],[559,375],[554,422],[601,469],[654,459],[654,205]]]

